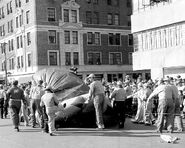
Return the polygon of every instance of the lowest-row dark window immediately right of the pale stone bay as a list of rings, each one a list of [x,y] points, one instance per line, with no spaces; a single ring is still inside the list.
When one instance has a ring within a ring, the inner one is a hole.
[[[87,53],[87,59],[88,59],[89,65],[100,65],[101,64],[100,52]]]

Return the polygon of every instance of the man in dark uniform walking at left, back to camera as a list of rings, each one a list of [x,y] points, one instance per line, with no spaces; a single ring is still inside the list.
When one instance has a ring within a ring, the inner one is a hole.
[[[7,99],[9,100],[9,108],[14,129],[19,132],[19,112],[21,109],[21,101],[26,105],[24,91],[18,87],[18,81],[13,81],[13,86],[7,91]]]

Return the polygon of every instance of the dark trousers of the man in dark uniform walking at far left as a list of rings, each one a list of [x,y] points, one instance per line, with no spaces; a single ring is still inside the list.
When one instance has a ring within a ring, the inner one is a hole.
[[[12,101],[10,105],[10,113],[15,128],[19,126],[19,112],[21,109],[21,101]]]

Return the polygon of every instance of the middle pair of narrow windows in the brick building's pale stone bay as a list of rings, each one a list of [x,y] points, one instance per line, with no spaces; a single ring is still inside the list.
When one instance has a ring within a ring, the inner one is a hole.
[[[78,31],[64,31],[65,44],[78,44]]]

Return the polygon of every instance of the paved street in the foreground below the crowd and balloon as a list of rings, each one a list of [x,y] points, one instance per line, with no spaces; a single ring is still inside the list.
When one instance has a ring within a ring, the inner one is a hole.
[[[23,124],[23,123],[21,123]],[[116,128],[97,131],[93,128],[61,128],[59,136],[49,136],[39,128],[20,126],[14,132],[10,119],[0,119],[0,148],[183,148],[185,132],[173,133],[180,138],[177,144],[161,142],[154,127],[132,124],[127,119],[125,129]]]

